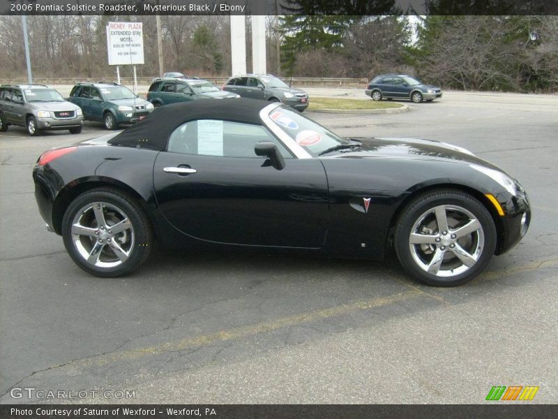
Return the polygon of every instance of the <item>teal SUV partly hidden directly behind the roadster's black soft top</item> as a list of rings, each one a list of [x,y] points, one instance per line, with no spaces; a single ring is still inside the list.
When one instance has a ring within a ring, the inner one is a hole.
[[[176,102],[189,102],[197,99],[239,98],[238,94],[222,91],[211,82],[202,79],[160,78],[155,79],[147,100],[158,106]]]

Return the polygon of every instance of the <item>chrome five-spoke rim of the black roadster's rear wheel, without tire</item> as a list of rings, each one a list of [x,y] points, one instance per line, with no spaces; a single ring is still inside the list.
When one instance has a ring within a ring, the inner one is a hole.
[[[119,207],[109,203],[89,203],[77,211],[71,234],[77,253],[96,267],[121,265],[134,247],[130,219]]]

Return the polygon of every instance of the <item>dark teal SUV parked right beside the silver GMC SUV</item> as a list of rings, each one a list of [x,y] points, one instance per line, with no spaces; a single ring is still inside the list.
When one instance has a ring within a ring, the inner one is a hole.
[[[82,108],[84,119],[103,122],[107,129],[140,121],[153,111],[151,103],[113,82],[78,83],[68,101]]]

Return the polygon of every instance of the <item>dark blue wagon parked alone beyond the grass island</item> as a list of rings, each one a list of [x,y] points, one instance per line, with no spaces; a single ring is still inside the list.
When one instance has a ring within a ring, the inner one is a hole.
[[[405,74],[383,74],[370,80],[365,93],[375,101],[409,99],[414,103],[442,97],[442,89]]]

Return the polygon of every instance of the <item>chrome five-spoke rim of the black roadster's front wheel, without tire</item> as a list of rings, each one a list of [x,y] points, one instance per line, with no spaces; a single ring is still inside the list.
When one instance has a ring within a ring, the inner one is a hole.
[[[409,235],[418,267],[436,277],[455,277],[473,267],[483,253],[481,222],[458,205],[439,205],[421,214]]]

